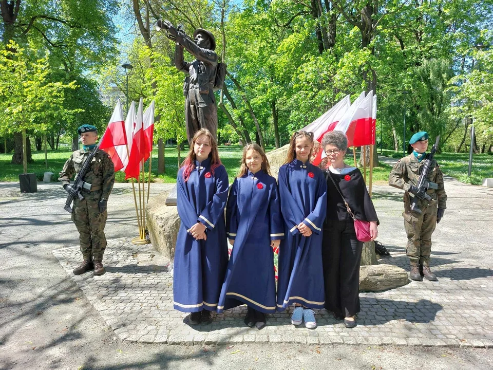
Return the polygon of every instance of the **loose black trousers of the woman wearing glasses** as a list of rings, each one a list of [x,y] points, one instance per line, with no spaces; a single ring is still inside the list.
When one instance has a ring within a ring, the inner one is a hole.
[[[353,220],[326,220],[322,241],[325,308],[337,316],[350,317],[359,312],[362,249]]]

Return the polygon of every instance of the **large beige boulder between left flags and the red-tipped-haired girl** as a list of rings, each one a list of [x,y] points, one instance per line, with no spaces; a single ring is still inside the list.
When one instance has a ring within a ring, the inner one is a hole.
[[[150,242],[158,252],[172,260],[175,257],[180,217],[176,206],[166,206],[168,194],[166,191],[150,198],[145,213]]]

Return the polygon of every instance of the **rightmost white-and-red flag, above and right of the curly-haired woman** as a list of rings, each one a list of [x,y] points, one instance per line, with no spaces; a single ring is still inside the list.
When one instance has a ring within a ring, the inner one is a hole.
[[[342,131],[348,137],[348,147],[368,145],[371,141],[373,121],[373,91],[365,92],[351,105],[344,117],[335,125],[334,131]],[[374,126],[373,126],[374,127]],[[375,132],[373,128],[373,142]]]

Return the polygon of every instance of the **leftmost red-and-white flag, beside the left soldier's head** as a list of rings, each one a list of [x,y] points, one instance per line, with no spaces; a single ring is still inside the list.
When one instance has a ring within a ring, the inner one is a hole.
[[[115,165],[115,171],[123,168],[121,153],[123,150],[126,151],[126,143],[127,137],[125,135],[122,104],[120,99],[118,99],[106,131],[99,141],[99,149],[108,153],[113,165]]]

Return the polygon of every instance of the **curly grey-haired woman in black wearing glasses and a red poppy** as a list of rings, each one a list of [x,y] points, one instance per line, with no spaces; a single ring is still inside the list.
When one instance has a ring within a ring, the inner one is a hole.
[[[329,159],[327,218],[322,242],[325,308],[336,319],[344,319],[346,327],[352,328],[356,326],[356,313],[360,309],[359,264],[363,242],[356,238],[354,221],[343,196],[356,219],[370,222],[371,240],[378,235],[378,218],[362,173],[344,163],[348,149],[346,135],[340,131],[328,132],[321,144]]]

